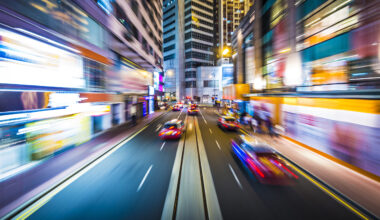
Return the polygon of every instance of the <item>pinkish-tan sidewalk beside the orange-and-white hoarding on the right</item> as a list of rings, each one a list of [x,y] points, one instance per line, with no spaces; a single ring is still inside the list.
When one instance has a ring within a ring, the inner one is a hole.
[[[248,130],[253,134],[252,130]],[[284,137],[254,134],[279,153],[358,205],[380,216],[380,182],[343,166]]]

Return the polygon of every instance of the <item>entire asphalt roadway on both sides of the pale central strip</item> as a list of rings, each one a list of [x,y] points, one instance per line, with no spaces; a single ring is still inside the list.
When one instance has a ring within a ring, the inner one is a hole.
[[[224,219],[359,219],[301,175],[290,186],[258,183],[232,157],[230,139],[238,133],[219,129],[213,109],[202,108],[201,113],[194,117]],[[36,208],[30,219],[160,219],[178,141],[163,145],[157,130],[185,116],[185,111],[170,112],[154,121]]]

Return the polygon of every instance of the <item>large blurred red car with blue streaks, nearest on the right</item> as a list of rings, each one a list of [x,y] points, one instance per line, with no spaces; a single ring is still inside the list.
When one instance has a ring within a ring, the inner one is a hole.
[[[251,136],[240,135],[232,140],[232,153],[246,165],[261,183],[289,184],[298,176],[269,146]]]

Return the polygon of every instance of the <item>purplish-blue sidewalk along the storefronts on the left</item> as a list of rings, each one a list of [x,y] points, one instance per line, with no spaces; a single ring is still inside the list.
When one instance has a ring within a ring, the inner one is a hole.
[[[114,127],[76,148],[0,182],[0,218],[57,185],[166,112],[154,112],[134,127],[129,123]]]

